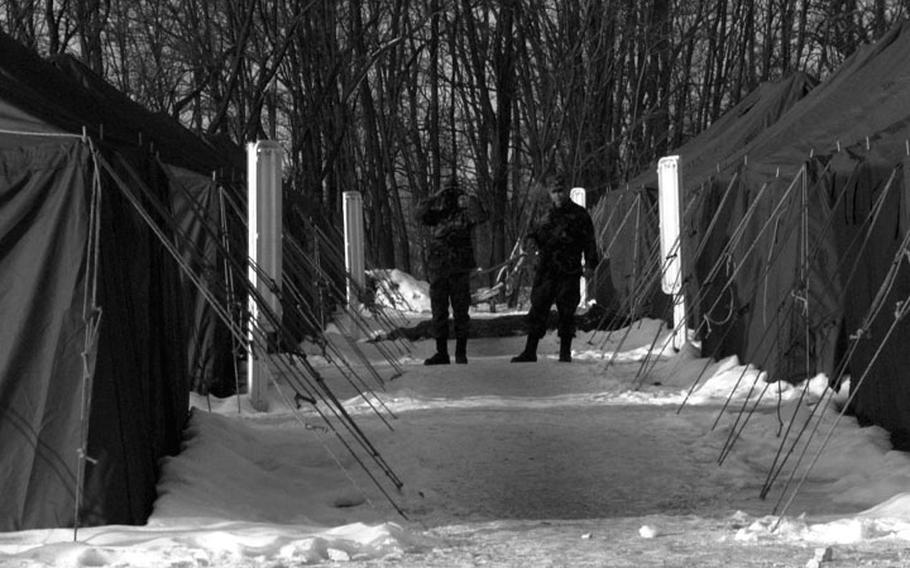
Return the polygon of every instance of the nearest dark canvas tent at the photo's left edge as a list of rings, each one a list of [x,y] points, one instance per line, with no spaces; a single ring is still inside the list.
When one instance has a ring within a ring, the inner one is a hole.
[[[77,496],[143,522],[186,418],[185,286],[131,201],[171,184],[100,100],[0,36],[0,530],[71,526]]]

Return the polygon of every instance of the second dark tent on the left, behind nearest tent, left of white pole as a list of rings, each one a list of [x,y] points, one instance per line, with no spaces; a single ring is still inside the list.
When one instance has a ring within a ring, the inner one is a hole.
[[[205,140],[170,117],[149,112],[71,56],[56,56],[51,63],[82,85],[97,108],[104,109],[105,139],[118,141],[130,153],[139,149],[144,156],[154,155],[160,162],[170,213],[185,241],[184,260],[193,274],[210,280],[208,288],[219,304],[230,303],[223,284],[226,259],[222,253],[232,251],[235,264],[242,264],[246,255],[246,229],[238,215],[230,214],[232,205],[243,201],[243,151],[230,143]],[[217,241],[224,238],[229,241],[219,246]],[[230,394],[236,381],[231,334],[186,275],[183,287],[190,384],[203,394]]]

